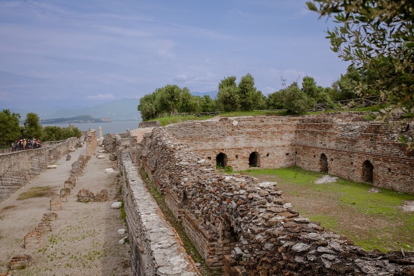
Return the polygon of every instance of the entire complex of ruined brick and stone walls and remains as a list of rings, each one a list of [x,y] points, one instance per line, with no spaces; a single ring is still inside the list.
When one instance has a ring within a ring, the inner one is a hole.
[[[86,157],[72,165],[79,175],[69,176],[61,195],[51,198],[49,210],[53,213],[45,213],[36,230],[27,229],[27,246],[41,248],[41,232],[52,231],[55,219],[61,219],[59,212],[68,209],[75,184],[79,189],[90,186],[82,187],[78,177],[93,176],[96,172],[88,172],[88,166],[109,162],[102,157],[109,155],[115,164],[112,168],[119,172],[112,175],[119,177],[132,275],[414,275],[413,250],[365,251],[346,236],[301,215],[277,182],[225,171],[230,167],[243,171],[295,166],[377,189],[414,194],[414,152],[397,140],[401,131],[413,136],[412,122],[401,130],[367,121],[363,115],[219,117],[165,127],[144,122],[132,131],[105,135],[102,150],[95,142],[96,131],[88,132]],[[2,167],[9,164],[1,174],[2,199],[19,188],[11,183],[30,178],[10,169],[23,157],[39,164],[32,172],[37,174],[78,142],[69,140],[41,149],[44,152],[36,158],[37,149],[18,153],[20,157],[1,155]],[[92,165],[86,166],[87,161]],[[148,188],[148,183],[154,188]],[[101,189],[79,190],[78,202],[86,203],[75,205],[73,199],[73,206],[102,204],[104,208],[110,203],[105,203],[108,192]],[[109,191],[109,199],[115,197]],[[186,251],[187,242],[173,228],[174,223],[166,220],[165,210],[157,204],[160,198],[202,257],[202,264]],[[54,212],[58,214],[54,216]],[[36,256],[26,257],[24,251],[19,254],[13,256],[10,266],[36,260]],[[104,271],[102,275],[112,274]]]

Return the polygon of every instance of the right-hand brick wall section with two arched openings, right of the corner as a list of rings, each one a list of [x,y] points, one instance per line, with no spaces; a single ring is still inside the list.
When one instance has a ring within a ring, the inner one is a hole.
[[[296,165],[364,182],[363,163],[373,165],[373,185],[414,193],[414,151],[400,145],[392,128],[365,121],[360,114],[307,116],[296,127]]]

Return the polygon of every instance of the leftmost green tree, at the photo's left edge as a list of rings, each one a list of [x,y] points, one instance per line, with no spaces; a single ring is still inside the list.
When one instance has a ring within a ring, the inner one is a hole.
[[[20,138],[20,114],[11,113],[9,109],[0,112],[0,144],[10,146]]]

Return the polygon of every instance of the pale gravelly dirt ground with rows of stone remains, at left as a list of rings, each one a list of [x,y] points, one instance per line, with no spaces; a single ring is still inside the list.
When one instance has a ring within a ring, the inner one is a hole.
[[[97,148],[97,151],[102,149]],[[118,244],[126,234],[120,210],[111,209],[119,201],[119,184],[116,161],[108,156],[98,159],[92,156],[76,186],[62,203],[62,210],[56,211],[58,219],[51,221],[52,232],[42,234],[40,249],[24,249],[24,235],[35,229],[43,213],[50,212],[49,197],[34,197],[18,200],[19,195],[33,187],[54,187],[56,192],[63,188],[69,177],[71,164],[80,154],[86,155],[86,148],[70,153],[71,161],[63,156],[55,165],[57,169],[44,170],[10,198],[0,204],[0,273],[6,272],[13,255],[29,254],[33,263],[24,270],[15,270],[12,275],[125,275],[129,276],[129,244]],[[104,154],[106,155],[106,154]],[[107,168],[115,172],[105,173]],[[106,202],[81,203],[77,193],[88,189],[94,193],[106,189]]]

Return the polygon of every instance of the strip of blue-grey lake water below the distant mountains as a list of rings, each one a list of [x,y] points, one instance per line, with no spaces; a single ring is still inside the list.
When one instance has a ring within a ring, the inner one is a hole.
[[[134,122],[110,122],[110,123],[83,123],[83,124],[45,124],[44,126],[57,126],[57,127],[69,127],[69,125],[74,125],[78,127],[79,130],[86,131],[88,128],[96,129],[97,135],[99,135],[99,127],[102,127],[102,135],[106,133],[117,133],[117,132],[126,132],[126,129],[135,129],[138,128],[138,125],[141,121]]]

